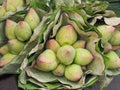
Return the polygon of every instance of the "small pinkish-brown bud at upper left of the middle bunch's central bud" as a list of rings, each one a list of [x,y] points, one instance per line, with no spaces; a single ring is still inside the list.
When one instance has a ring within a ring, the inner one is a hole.
[[[60,48],[60,45],[58,44],[58,42],[55,39],[50,39],[46,43],[46,48],[51,49],[52,51],[54,51],[56,53],[57,50]]]

